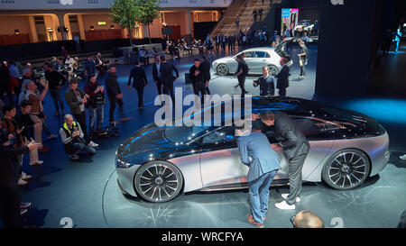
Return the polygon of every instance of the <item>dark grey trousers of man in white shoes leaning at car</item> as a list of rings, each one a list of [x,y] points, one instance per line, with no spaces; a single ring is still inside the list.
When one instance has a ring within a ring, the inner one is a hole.
[[[305,144],[305,143],[303,143]],[[308,151],[304,154],[299,156],[295,156],[289,160],[289,196],[286,199],[286,203],[288,205],[294,205],[296,202],[296,197],[300,195],[301,185],[302,185],[302,177],[301,177],[301,169],[303,169],[303,164],[308,156]]]

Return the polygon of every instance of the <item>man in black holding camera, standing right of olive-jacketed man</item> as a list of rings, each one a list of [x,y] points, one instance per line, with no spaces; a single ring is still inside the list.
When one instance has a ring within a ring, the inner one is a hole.
[[[106,104],[105,87],[97,83],[97,75],[91,74],[88,77],[88,83],[84,87],[88,97],[88,111],[90,113],[90,133],[93,134],[99,130],[104,121],[104,108]],[[97,114],[97,127],[95,130],[95,121]]]

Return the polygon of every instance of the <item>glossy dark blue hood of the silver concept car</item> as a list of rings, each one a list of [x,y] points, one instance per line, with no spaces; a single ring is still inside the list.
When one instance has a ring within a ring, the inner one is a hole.
[[[152,160],[167,160],[188,155],[196,146],[175,145],[164,136],[165,127],[150,123],[125,140],[117,150],[117,159],[132,165]]]

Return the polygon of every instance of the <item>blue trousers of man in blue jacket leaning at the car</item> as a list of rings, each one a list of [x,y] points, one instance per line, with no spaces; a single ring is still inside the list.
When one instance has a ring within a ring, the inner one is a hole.
[[[278,170],[265,173],[260,178],[249,182],[251,214],[256,223],[263,223],[263,217],[268,211],[269,187]]]

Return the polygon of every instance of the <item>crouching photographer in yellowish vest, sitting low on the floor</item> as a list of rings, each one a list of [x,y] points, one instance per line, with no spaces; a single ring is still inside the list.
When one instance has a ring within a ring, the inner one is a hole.
[[[78,152],[84,151],[89,154],[95,154],[96,150],[85,143],[83,132],[80,124],[73,121],[73,116],[65,114],[65,123],[60,128],[60,138],[62,139],[65,152],[69,155],[70,159],[78,159]]]

